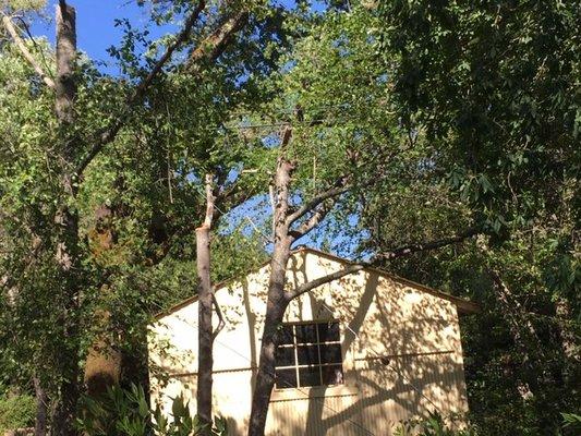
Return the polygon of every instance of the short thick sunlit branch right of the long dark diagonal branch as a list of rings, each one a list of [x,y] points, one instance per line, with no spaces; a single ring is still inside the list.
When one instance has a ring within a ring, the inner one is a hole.
[[[233,35],[239,32],[249,19],[246,11],[240,11],[222,23],[198,47],[192,51],[187,59],[186,68],[191,72],[197,71],[203,59],[216,60],[228,47]]]

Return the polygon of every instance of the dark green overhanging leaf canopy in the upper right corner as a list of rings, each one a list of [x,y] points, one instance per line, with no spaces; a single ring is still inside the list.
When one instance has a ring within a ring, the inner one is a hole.
[[[451,185],[496,231],[558,204],[581,161],[579,8],[394,1],[380,13],[399,112],[438,142]]]

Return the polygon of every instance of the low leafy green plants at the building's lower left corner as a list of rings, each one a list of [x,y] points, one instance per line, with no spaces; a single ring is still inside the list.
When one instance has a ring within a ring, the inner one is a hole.
[[[149,408],[143,387],[136,385],[130,389],[113,386],[100,399],[84,397],[81,409],[77,427],[88,436],[191,436],[204,429],[182,396],[173,399],[168,420],[159,405]],[[217,417],[211,435],[226,434],[226,421]]]

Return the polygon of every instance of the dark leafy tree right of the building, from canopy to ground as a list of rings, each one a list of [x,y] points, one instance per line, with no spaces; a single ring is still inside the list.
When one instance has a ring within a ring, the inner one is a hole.
[[[579,361],[579,9],[419,1],[379,12],[390,23],[378,28],[379,49],[398,113],[437,144],[444,198],[491,233],[391,267],[477,291],[485,315],[468,327],[480,364],[468,366],[469,392],[486,432],[556,432]],[[417,226],[437,222],[425,213]],[[382,226],[382,239],[394,230]],[[493,326],[492,338],[479,330]]]

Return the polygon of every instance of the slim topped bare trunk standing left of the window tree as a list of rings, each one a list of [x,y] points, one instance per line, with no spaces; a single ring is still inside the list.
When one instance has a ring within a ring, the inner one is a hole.
[[[210,280],[210,229],[214,215],[213,177],[206,174],[206,217],[196,229],[196,264],[197,264],[197,318],[198,318],[198,358],[197,358],[197,415],[207,426],[203,434],[210,434],[211,426],[211,372],[214,367],[211,327],[211,310],[214,291]]]

